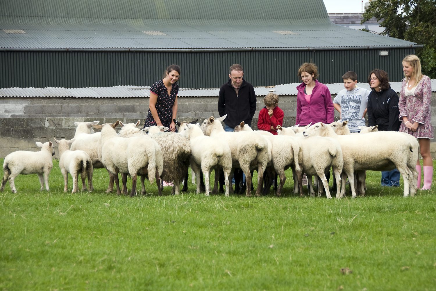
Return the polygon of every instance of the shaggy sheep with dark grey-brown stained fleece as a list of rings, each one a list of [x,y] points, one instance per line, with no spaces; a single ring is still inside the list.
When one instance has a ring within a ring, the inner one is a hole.
[[[119,131],[120,137],[143,136],[155,140],[163,155],[163,171],[160,177],[167,182],[173,183],[171,194],[179,195],[180,184],[188,171],[191,158],[191,146],[189,141],[180,134],[162,132],[163,127],[146,127],[140,130],[137,128],[140,120],[136,123],[122,124]],[[167,129],[166,129],[167,130]],[[149,134],[146,134],[149,133]]]

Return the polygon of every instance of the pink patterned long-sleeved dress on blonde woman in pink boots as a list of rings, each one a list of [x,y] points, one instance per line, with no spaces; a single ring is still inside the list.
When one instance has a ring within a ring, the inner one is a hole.
[[[404,123],[401,124],[399,131],[410,134],[416,138],[433,138],[433,127],[431,123],[430,101],[432,97],[432,86],[430,78],[423,75],[421,80],[411,90],[409,88],[409,78],[402,81],[400,100],[398,108],[400,110],[399,119],[407,116],[411,123],[418,122],[418,129],[413,132]]]

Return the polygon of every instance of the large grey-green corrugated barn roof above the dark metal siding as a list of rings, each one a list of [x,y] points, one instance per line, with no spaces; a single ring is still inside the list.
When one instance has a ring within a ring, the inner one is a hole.
[[[104,5],[101,0],[0,0],[0,6],[0,29],[26,32],[0,30],[0,48],[4,49],[364,48],[415,44],[333,24],[322,0],[106,0]]]

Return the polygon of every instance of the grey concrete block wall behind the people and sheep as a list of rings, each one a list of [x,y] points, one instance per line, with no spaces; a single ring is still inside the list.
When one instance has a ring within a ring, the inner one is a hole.
[[[334,96],[332,97],[334,98]],[[74,137],[76,121],[99,120],[100,124],[121,120],[144,122],[148,112],[148,98],[0,98],[0,157],[18,151],[38,151],[36,141],[46,142],[56,138]],[[199,122],[218,117],[218,97],[179,97],[177,118],[181,121]],[[257,97],[257,109],[252,128],[257,129],[263,96]],[[295,124],[296,96],[280,96],[285,127]],[[436,93],[432,96],[432,121],[436,125]],[[335,111],[335,118],[339,115]],[[433,131],[436,127],[433,126]],[[436,143],[431,145],[436,158]],[[56,151],[55,157],[58,157]]]

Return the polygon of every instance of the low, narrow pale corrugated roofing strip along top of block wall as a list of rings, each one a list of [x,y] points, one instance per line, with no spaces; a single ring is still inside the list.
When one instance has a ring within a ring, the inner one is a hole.
[[[432,92],[436,92],[436,79],[431,80]],[[401,82],[391,82],[391,88],[400,92]],[[296,86],[300,83],[282,84],[269,87],[255,87],[256,96],[265,96],[271,90],[277,95],[296,95]],[[344,89],[343,83],[326,84],[332,95]],[[370,89],[368,83],[358,83],[361,88]],[[219,89],[179,89],[180,97],[218,97]],[[76,97],[76,98],[128,98],[150,97],[150,86],[114,86],[88,88],[3,88],[0,97]]]

